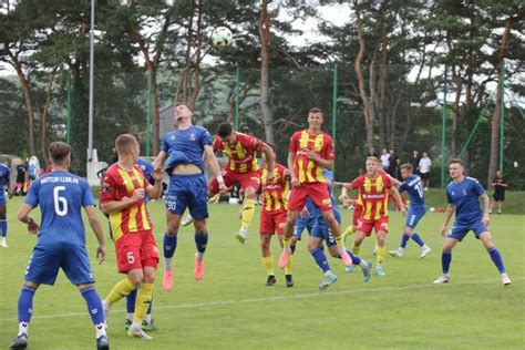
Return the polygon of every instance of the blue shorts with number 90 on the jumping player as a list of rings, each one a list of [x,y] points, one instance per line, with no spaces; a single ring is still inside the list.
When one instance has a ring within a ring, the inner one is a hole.
[[[186,208],[196,220],[208,217],[208,189],[203,174],[169,176],[166,209],[183,215]]]

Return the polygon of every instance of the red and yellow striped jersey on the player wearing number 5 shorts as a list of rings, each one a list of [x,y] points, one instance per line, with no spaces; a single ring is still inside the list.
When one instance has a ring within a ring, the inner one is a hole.
[[[110,166],[102,181],[100,199],[101,203],[122,200],[124,197],[133,196],[136,188],[147,186],[150,183],[138,166],[134,165],[132,169],[126,171],[115,163]],[[144,199],[137,200],[121,212],[111,213],[110,224],[113,240],[131,233],[153,229]]]

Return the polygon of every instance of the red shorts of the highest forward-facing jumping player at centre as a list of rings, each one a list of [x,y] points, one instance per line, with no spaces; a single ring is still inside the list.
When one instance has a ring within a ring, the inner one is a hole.
[[[288,210],[302,210],[307,197],[310,197],[321,212],[332,209],[332,200],[326,183],[303,183],[299,187],[291,187]]]

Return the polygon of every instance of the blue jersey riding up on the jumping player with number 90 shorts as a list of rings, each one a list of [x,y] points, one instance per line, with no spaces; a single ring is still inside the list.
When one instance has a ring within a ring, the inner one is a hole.
[[[192,125],[186,130],[176,130],[167,133],[162,142],[161,151],[167,153],[166,171],[178,164],[195,164],[204,173],[204,146],[213,146],[212,135],[202,127]]]

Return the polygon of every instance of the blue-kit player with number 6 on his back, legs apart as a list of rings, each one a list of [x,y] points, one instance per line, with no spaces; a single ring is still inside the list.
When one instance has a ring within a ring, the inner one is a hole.
[[[104,312],[93,285],[93,274],[85,250],[85,229],[82,222],[83,207],[99,241],[96,257],[102,264],[106,248],[95,202],[87,182],[68,172],[71,165],[70,145],[53,142],[48,152],[53,172],[33,182],[17,215],[20,222],[28,225],[30,234],[38,235],[38,243],[29,260],[18,300],[19,333],[10,348],[27,348],[34,292],[42,284],[54,285],[59,269],[62,269],[85,299],[91,320],[95,325],[96,348],[110,349]],[[42,213],[40,227],[29,216],[37,206],[40,206]]]

